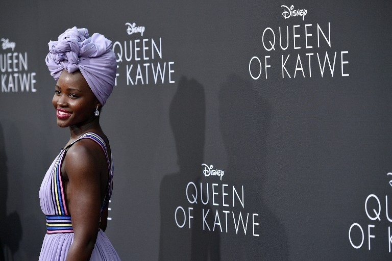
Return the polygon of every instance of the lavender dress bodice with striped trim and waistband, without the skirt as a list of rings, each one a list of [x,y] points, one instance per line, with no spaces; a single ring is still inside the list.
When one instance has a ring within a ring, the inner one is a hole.
[[[55,161],[52,163],[51,167],[46,172],[45,178],[42,181],[39,197],[42,212],[46,215],[47,233],[73,232],[71,217],[66,205],[65,191],[63,186],[64,182],[61,176],[61,166],[68,148],[81,139],[91,139],[95,141],[101,146],[106,156],[109,178],[107,192],[101,207],[101,215],[111,197],[113,189],[113,161],[112,159],[109,159],[106,143],[95,133],[83,134],[76,141],[72,142],[66,148],[61,150]]]

